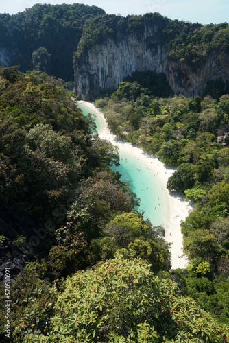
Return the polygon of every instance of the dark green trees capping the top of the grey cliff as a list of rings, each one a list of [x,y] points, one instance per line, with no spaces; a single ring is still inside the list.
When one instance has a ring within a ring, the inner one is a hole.
[[[134,34],[143,38],[145,29],[150,25],[154,25],[156,32],[152,45],[167,45],[169,58],[187,62],[192,67],[206,60],[210,52],[229,51],[228,23],[201,25],[171,20],[155,12],[125,18],[108,14],[99,16],[84,29],[75,56],[79,58],[84,49],[102,44],[109,37],[119,40],[121,36]],[[148,44],[151,44],[150,41]]]

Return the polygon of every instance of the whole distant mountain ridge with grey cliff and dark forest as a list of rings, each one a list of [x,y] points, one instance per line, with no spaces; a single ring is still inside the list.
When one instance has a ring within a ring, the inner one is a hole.
[[[165,73],[173,94],[202,96],[209,82],[229,82],[228,23],[201,25],[158,13],[116,16],[88,5],[34,5],[0,14],[0,64],[40,69],[75,82],[91,99],[134,71]]]

